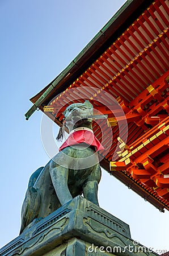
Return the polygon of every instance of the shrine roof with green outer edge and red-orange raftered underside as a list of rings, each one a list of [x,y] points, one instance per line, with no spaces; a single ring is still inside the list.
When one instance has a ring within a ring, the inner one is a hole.
[[[117,155],[119,127],[116,122],[124,119],[119,106],[128,123],[126,144],[134,151],[123,155],[124,160],[128,154],[132,154],[132,161],[141,159],[138,148],[141,150],[145,146],[143,143],[148,145],[147,150],[153,148],[153,136],[157,138],[155,143],[161,139],[167,141],[168,20],[167,1],[127,1],[69,66],[31,98],[33,106],[26,114],[28,119],[39,108],[60,125],[64,118],[62,113],[70,102],[89,99],[96,112],[108,114],[108,125],[113,134],[113,143],[108,147],[109,127],[105,126],[104,120],[99,123],[102,129],[94,122],[96,137],[99,140],[102,140],[103,134],[106,137],[103,139],[105,152],[101,154],[101,166],[162,211],[169,209],[169,196],[165,189],[160,188],[161,180],[157,181],[159,187],[154,189],[156,181],[151,184],[146,179],[141,181],[136,170],[135,178],[133,172],[112,172],[109,162],[112,155]],[[78,89],[83,98],[78,97]],[[124,123],[121,130],[120,137],[126,137]],[[154,148],[150,155],[157,159],[158,154],[165,164],[167,146],[163,152]],[[143,165],[143,160],[139,164]],[[162,170],[165,175],[168,174],[166,170]],[[144,175],[147,177],[147,174]],[[167,196],[162,197],[164,194]]]

